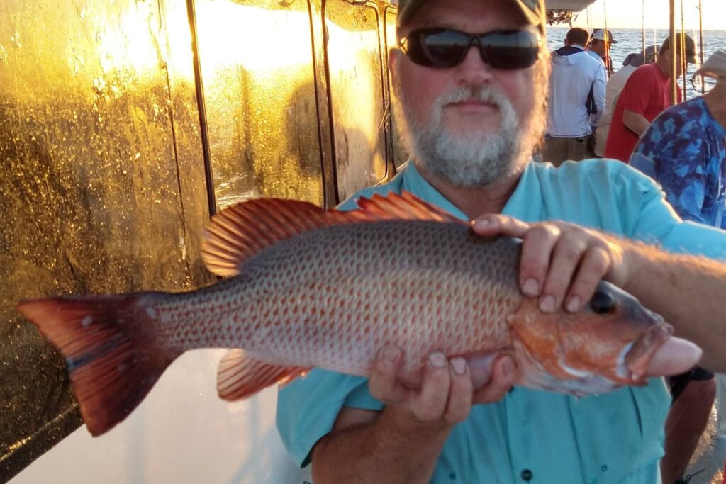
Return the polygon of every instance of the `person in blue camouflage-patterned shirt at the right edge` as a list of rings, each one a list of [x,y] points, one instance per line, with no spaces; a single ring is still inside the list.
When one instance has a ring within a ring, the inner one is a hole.
[[[645,131],[630,164],[661,184],[684,220],[726,229],[726,49],[697,75],[717,79],[714,89],[665,110]],[[685,475],[708,424],[716,394],[714,374],[696,367],[670,379],[673,403],[666,419],[664,483]]]

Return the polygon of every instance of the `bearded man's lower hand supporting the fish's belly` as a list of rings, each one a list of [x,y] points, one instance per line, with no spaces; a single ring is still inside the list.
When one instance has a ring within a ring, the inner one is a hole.
[[[473,403],[498,401],[515,381],[515,366],[510,356],[494,361],[492,377],[486,385],[475,389],[471,369],[464,358],[449,360],[444,353],[431,353],[421,385],[413,389],[399,379],[401,356],[398,348],[381,348],[372,362],[368,387],[375,398],[387,406],[397,407],[412,423],[451,427],[469,416]]]

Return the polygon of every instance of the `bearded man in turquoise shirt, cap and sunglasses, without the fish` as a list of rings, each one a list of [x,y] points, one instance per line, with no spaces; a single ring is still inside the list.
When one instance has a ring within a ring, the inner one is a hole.
[[[410,192],[474,220],[481,237],[522,239],[520,288],[543,314],[600,311],[592,295],[608,280],[700,345],[703,366],[726,371],[724,267],[628,240],[724,258],[726,237],[680,221],[623,163],[531,162],[550,62],[544,15],[542,0],[399,1],[393,110],[412,161],[362,194]],[[280,391],[280,434],[316,484],[660,482],[661,378],[577,398],[513,388],[524,369],[507,353],[433,351],[410,385],[407,349],[380,348],[370,380],[313,370]],[[663,375],[700,353],[671,338],[651,356],[645,372]]]

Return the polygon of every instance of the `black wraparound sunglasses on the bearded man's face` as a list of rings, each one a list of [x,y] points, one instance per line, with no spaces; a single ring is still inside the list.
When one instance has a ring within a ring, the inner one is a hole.
[[[449,69],[460,65],[472,46],[494,69],[524,69],[542,57],[542,38],[529,30],[466,33],[450,28],[420,28],[401,38],[401,50],[417,65]]]

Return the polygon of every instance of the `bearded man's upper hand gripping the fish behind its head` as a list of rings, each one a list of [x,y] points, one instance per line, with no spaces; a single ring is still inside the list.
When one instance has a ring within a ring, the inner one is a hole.
[[[526,223],[510,216],[488,214],[476,219],[474,231],[485,237],[522,239],[519,284],[539,298],[544,312],[582,309],[601,279],[625,288],[635,269],[624,245],[615,237],[572,223]]]

